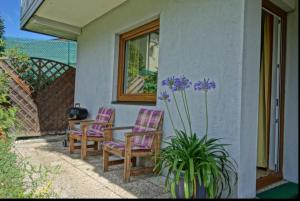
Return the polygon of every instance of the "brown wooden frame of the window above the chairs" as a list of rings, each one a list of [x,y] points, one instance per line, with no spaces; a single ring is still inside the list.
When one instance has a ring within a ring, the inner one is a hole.
[[[159,30],[160,22],[156,19],[131,31],[120,35],[119,40],[119,64],[118,64],[118,83],[117,83],[117,101],[120,102],[151,102],[156,103],[156,93],[154,94],[125,94],[124,76],[125,76],[125,48],[128,40]]]

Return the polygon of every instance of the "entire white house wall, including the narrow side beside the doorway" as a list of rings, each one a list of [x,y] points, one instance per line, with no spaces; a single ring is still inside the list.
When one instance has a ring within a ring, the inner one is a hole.
[[[111,103],[116,97],[116,34],[160,16],[158,92],[164,89],[161,81],[172,75],[216,82],[216,89],[208,97],[209,136],[222,137],[224,143],[232,144],[228,150],[239,165],[240,177],[236,196],[254,197],[260,5],[259,0],[125,2],[82,29],[75,102],[87,107],[91,118],[99,106],[113,106],[116,126],[133,125],[140,107],[165,109],[159,101],[156,106]],[[257,16],[251,19],[253,13]],[[244,35],[244,29],[250,34]],[[204,97],[199,92],[188,94],[193,129],[202,136]],[[176,116],[174,109],[173,114]],[[178,119],[176,125],[180,125]],[[173,133],[166,112],[163,137],[169,135]]]

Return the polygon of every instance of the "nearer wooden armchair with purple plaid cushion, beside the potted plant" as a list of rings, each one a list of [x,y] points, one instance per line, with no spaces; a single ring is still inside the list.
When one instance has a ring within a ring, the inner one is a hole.
[[[107,132],[109,137],[112,137],[109,132],[114,130],[131,129],[131,132],[125,133],[125,141],[112,141],[111,138],[110,141],[103,142],[103,171],[108,171],[111,165],[124,163],[125,182],[129,181],[130,176],[153,172],[154,167],[133,169],[131,166],[136,166],[137,157],[156,156],[159,153],[162,124],[162,111],[142,108],[134,126],[105,128],[105,135]],[[110,155],[117,155],[124,159],[110,161]]]

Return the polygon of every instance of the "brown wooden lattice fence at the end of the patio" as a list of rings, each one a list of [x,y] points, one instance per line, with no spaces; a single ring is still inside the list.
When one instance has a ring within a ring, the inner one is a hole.
[[[75,69],[40,58],[31,58],[25,71],[12,65],[0,59],[0,70],[10,77],[10,103],[17,108],[21,135],[64,132],[66,110],[74,102]]]

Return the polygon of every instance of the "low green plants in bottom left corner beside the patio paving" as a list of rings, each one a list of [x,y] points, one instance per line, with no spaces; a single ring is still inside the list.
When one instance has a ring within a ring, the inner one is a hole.
[[[12,139],[0,140],[0,198],[53,198],[50,175],[59,167],[33,166],[12,150]]]

